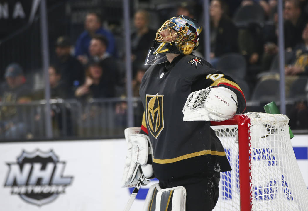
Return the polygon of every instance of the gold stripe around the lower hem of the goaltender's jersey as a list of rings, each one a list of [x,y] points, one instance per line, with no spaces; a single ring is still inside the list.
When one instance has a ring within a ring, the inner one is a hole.
[[[187,158],[191,158],[191,157],[197,157],[197,156],[201,156],[201,155],[219,155],[219,156],[225,156],[226,153],[225,151],[223,152],[220,152],[220,151],[212,151],[212,150],[202,150],[202,151],[199,151],[199,152],[194,152],[194,153],[190,153],[190,154],[186,154],[186,155],[182,155],[180,157],[175,157],[175,158],[170,158],[170,159],[156,159],[156,158],[153,158],[153,162],[155,163],[160,163],[160,164],[164,164],[164,163],[174,163],[174,162],[177,162],[177,161],[181,161],[181,160],[184,160],[184,159],[187,159]]]

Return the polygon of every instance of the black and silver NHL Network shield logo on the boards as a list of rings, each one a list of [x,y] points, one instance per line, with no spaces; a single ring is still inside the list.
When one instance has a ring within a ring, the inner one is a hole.
[[[7,165],[9,171],[4,186],[11,187],[12,194],[38,206],[55,200],[73,180],[73,177],[63,176],[65,162],[59,161],[52,150],[23,151],[17,163]]]

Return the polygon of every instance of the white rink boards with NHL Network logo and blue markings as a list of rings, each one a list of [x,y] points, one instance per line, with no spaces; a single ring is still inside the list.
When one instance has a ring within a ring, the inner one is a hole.
[[[308,186],[308,135],[292,144]],[[131,191],[120,187],[125,156],[123,139],[0,143],[1,209],[123,210]],[[131,210],[142,210],[148,188]]]

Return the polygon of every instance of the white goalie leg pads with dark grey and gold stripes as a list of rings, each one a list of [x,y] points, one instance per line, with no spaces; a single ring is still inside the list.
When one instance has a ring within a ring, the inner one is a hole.
[[[161,189],[159,183],[152,185],[145,199],[143,211],[185,211],[186,189],[183,186]]]

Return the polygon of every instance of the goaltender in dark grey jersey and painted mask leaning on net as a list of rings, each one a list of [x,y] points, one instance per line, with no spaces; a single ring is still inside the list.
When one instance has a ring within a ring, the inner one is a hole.
[[[147,211],[212,210],[220,172],[231,170],[210,121],[242,113],[246,101],[232,78],[193,54],[201,30],[196,20],[174,16],[157,30],[148,51],[150,67],[140,85],[145,112],[141,128],[125,129],[122,180],[124,187],[137,184],[135,190],[151,178],[159,180],[148,191]]]

